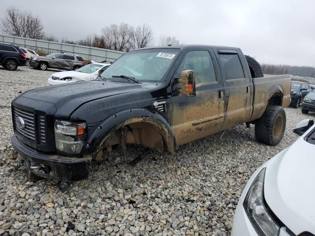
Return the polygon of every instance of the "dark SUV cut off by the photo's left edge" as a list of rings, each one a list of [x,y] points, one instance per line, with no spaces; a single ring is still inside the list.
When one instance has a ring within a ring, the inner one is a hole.
[[[0,43],[0,65],[7,70],[16,70],[18,66],[25,65],[25,54],[18,46]]]

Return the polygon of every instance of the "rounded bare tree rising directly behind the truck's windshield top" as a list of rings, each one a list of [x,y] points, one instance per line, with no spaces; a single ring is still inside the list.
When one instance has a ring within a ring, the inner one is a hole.
[[[132,49],[145,48],[153,43],[153,32],[149,25],[143,24],[131,30],[130,44]]]

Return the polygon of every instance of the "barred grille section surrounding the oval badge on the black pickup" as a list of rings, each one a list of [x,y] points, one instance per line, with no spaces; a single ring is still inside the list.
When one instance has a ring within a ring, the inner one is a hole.
[[[22,118],[25,123],[25,127],[20,127],[17,123],[18,119]],[[13,119],[15,132],[21,135],[23,138],[35,143],[35,127],[34,127],[34,115],[32,112],[27,112],[19,108],[13,108]]]

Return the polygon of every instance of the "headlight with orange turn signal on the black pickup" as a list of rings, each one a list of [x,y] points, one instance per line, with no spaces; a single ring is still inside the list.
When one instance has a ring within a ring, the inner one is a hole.
[[[73,155],[81,152],[86,139],[86,123],[72,123],[63,120],[55,122],[56,149],[62,154]]]

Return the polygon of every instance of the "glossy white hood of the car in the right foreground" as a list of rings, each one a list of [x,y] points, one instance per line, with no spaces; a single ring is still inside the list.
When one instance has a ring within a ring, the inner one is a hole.
[[[268,206],[295,235],[315,234],[315,145],[304,136],[268,163],[264,183]]]

